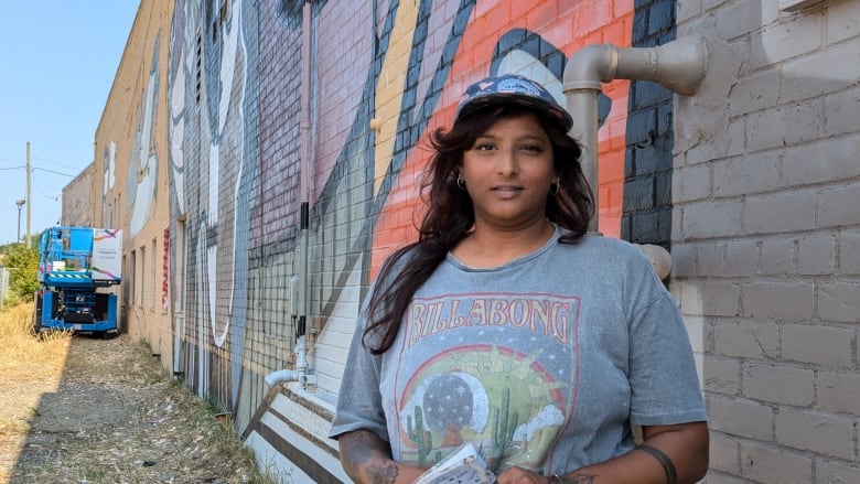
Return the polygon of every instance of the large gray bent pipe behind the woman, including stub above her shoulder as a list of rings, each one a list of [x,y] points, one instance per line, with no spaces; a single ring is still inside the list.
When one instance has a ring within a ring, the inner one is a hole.
[[[708,45],[698,36],[681,37],[649,49],[612,44],[587,45],[577,51],[565,67],[563,93],[573,116],[570,136],[582,144],[582,171],[598,205],[598,94],[602,83],[613,79],[653,80],[667,89],[696,94],[708,66]],[[590,230],[599,233],[598,216]],[[665,279],[671,270],[671,256],[654,245],[639,246],[655,271]]]

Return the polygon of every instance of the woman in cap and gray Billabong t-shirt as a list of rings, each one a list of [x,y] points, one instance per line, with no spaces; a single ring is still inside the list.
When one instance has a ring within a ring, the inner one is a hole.
[[[355,482],[412,482],[464,443],[501,484],[705,475],[680,313],[635,247],[587,234],[571,126],[542,86],[506,75],[432,133],[419,240],[370,290],[332,424]]]

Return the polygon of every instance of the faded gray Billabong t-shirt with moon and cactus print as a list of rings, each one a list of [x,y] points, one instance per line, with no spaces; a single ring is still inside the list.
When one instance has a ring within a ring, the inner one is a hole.
[[[492,470],[561,474],[630,451],[631,423],[707,420],[680,312],[642,252],[560,235],[493,269],[449,254],[383,355],[361,345],[363,311],[330,435],[370,430],[420,465],[472,442]]]

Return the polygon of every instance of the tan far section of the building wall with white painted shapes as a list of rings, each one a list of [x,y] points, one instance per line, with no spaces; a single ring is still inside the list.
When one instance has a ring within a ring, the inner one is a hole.
[[[120,331],[148,342],[165,365],[173,355],[166,204],[172,7],[140,2],[96,129],[89,191],[92,225],[122,229]]]

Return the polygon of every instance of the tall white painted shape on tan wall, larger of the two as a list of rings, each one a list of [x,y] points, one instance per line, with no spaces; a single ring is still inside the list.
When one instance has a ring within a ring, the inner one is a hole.
[[[129,169],[131,170],[129,173],[129,193],[130,195],[133,194],[131,221],[129,223],[131,237],[135,237],[149,219],[158,189],[159,158],[152,137],[152,125],[155,119],[155,98],[159,92],[159,43],[160,36],[157,36],[147,90],[143,99],[141,99],[140,112],[142,115],[139,115],[138,131],[135,135],[131,163],[129,163]],[[129,196],[129,201],[132,201],[132,196]]]

